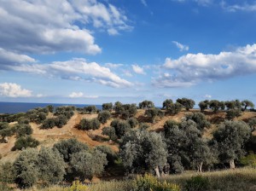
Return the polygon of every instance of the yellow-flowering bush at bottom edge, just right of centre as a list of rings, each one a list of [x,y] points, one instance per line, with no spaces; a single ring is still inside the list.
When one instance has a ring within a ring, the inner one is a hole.
[[[137,176],[133,182],[134,191],[180,191],[181,188],[177,184],[160,182],[151,175]]]

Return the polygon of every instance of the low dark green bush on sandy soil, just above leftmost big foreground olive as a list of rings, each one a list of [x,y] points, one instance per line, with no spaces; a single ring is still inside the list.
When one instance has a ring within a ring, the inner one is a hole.
[[[15,142],[15,147],[12,148],[13,151],[15,150],[22,150],[22,148],[36,148],[38,147],[39,142],[38,140],[32,138],[32,136],[21,136]]]

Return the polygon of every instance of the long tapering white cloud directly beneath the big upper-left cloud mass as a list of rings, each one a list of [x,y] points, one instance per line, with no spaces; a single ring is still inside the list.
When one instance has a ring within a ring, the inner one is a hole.
[[[114,88],[130,87],[132,84],[111,72],[108,67],[102,67],[96,62],[87,62],[84,59],[71,61],[54,61],[49,64],[21,64],[11,66],[10,69],[18,72],[32,72],[47,75],[50,78],[64,78],[70,80],[84,80],[108,85]]]

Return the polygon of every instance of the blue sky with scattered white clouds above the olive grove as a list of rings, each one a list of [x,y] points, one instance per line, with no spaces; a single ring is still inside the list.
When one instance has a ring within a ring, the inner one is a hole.
[[[256,104],[256,2],[0,0],[0,101]]]

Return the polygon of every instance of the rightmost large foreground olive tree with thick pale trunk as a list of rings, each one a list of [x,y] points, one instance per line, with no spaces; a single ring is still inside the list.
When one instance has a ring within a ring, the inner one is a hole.
[[[225,121],[213,133],[213,140],[218,142],[218,157],[222,162],[229,162],[234,169],[235,160],[245,154],[245,144],[251,136],[249,126],[243,121]]]

